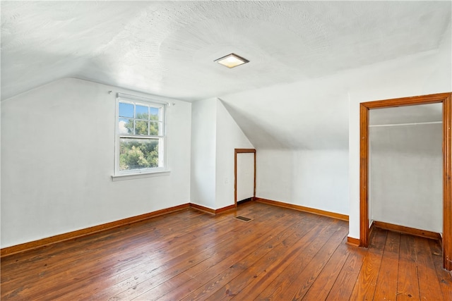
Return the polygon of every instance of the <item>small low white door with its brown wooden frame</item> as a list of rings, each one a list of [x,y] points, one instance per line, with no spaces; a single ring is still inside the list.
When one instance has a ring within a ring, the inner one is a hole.
[[[256,149],[234,149],[234,203],[256,197]]]

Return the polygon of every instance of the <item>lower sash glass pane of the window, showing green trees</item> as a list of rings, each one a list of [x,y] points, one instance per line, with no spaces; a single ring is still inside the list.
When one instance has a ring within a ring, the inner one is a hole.
[[[159,167],[158,145],[158,139],[121,138],[119,140],[119,170]]]

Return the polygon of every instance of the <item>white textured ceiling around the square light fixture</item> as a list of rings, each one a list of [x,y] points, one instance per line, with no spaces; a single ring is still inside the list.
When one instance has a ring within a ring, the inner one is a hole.
[[[436,49],[450,19],[450,1],[1,1],[1,98],[63,77],[221,97]],[[230,52],[251,62],[213,62]]]

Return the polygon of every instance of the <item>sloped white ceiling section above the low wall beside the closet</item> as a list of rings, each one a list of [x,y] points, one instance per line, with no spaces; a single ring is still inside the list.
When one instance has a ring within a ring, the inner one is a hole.
[[[325,89],[323,80],[309,80],[220,99],[258,149],[347,149],[346,96],[343,81],[330,80]]]

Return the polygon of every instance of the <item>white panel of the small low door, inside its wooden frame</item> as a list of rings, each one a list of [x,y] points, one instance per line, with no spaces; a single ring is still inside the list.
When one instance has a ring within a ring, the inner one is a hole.
[[[237,202],[254,197],[254,153],[237,154]]]

